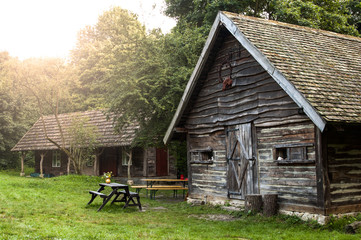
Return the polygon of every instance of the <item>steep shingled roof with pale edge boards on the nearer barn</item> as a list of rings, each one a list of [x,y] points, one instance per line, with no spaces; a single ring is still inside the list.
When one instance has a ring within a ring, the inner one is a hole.
[[[226,28],[323,131],[361,123],[361,38],[220,12],[168,128],[179,123],[221,28]]]

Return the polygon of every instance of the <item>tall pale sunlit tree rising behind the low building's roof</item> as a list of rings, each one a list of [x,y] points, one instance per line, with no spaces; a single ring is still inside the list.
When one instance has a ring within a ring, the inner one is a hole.
[[[145,28],[136,16],[120,7],[104,12],[95,26],[79,32],[71,58],[80,77],[76,92],[84,108],[108,107],[110,83],[127,75],[127,63],[134,58],[134,49],[144,35]]]

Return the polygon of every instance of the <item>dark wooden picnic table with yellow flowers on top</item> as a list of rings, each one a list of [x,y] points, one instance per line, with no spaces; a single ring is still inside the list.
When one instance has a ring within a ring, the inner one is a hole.
[[[103,199],[103,204],[99,207],[98,212],[102,210],[102,208],[110,201],[110,199],[114,196],[111,204],[115,202],[124,202],[123,208],[128,206],[138,206],[139,210],[142,210],[142,205],[140,203],[140,197],[138,193],[130,192],[129,187],[126,184],[120,183],[99,183],[100,188],[97,191],[89,191],[92,195],[88,205],[91,204],[94,199],[99,196]],[[112,191],[107,195],[102,193],[102,191],[106,188],[110,187]],[[118,199],[121,196],[120,199]],[[136,199],[136,201],[135,201]]]

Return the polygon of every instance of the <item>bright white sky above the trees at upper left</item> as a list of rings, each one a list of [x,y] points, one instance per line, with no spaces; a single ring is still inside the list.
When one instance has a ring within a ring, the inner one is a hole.
[[[0,0],[0,51],[20,60],[67,58],[79,30],[95,25],[113,6],[138,14],[147,29],[167,33],[176,22],[162,14],[164,5],[164,0]]]

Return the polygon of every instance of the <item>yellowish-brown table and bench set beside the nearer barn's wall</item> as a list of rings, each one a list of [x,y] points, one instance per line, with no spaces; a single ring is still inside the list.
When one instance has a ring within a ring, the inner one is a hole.
[[[147,185],[138,185],[138,186],[132,186],[132,188],[135,188],[137,193],[143,188],[147,190],[146,195],[148,196],[148,191],[150,191],[150,198],[155,199],[155,194],[159,190],[173,190],[173,196],[177,197],[178,190],[183,190],[183,198],[185,195],[185,191],[188,190],[187,179],[172,179],[172,178],[145,178],[141,179],[142,181],[145,181]],[[160,182],[166,182],[167,185],[156,185],[156,183]],[[181,183],[181,185],[176,185],[176,183]]]

